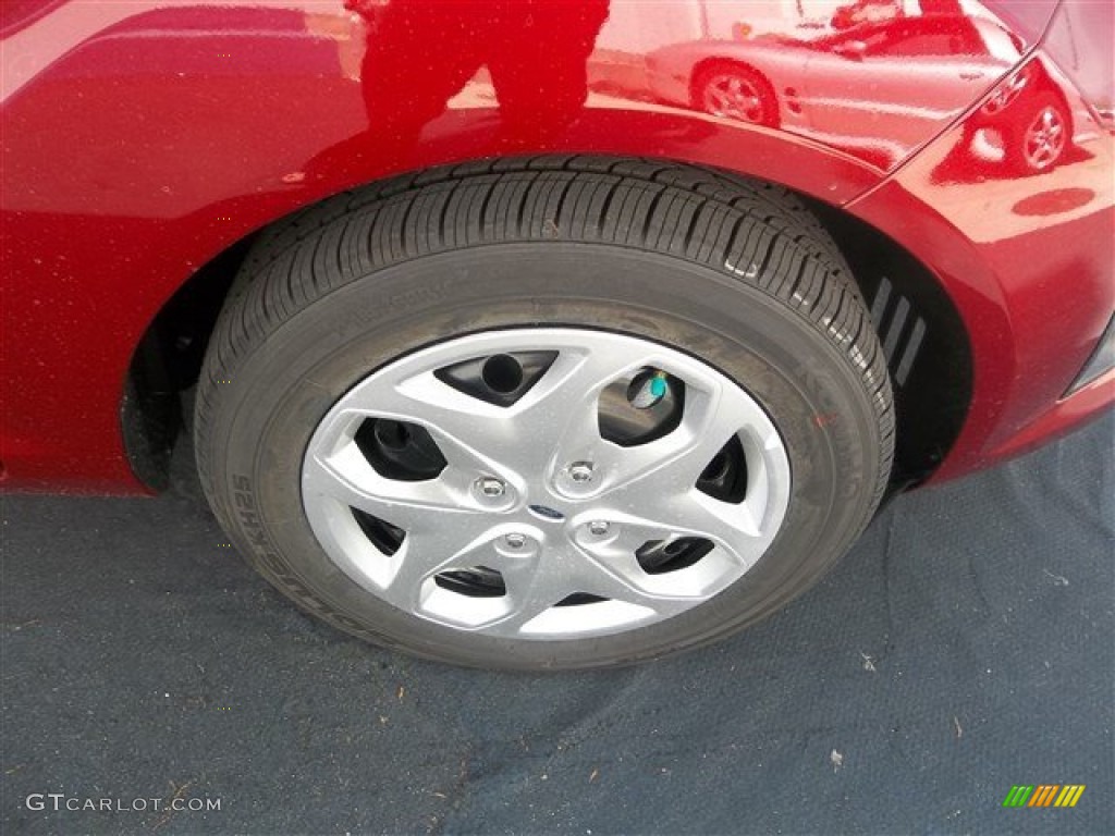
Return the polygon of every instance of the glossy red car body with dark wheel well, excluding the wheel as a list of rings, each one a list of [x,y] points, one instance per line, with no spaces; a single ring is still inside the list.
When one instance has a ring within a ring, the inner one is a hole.
[[[1111,7],[811,6],[6,3],[3,488],[157,483],[143,427],[162,385],[146,371],[188,385],[183,358],[260,230],[404,172],[534,154],[666,158],[806,196],[859,265],[902,378],[909,480],[995,463],[1109,405]],[[846,130],[700,113],[649,80],[648,57],[671,45],[731,60],[717,43],[765,33],[807,45],[793,84],[772,79],[793,99],[821,80],[818,50],[888,14],[933,17],[932,43],[908,48],[940,60],[881,70],[841,48],[846,90],[828,104],[874,97]],[[995,55],[966,54],[973,26],[1002,32]],[[583,77],[554,60],[552,35],[576,27]],[[1010,143],[1038,96],[1068,135],[1051,164],[1019,171]],[[575,117],[539,129],[532,115],[565,98]]]

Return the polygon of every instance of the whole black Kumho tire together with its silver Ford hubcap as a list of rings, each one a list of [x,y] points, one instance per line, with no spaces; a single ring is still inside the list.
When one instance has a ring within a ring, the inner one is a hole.
[[[592,157],[437,169],[254,244],[198,386],[222,525],[308,611],[459,664],[726,635],[869,522],[893,406],[788,193]]]

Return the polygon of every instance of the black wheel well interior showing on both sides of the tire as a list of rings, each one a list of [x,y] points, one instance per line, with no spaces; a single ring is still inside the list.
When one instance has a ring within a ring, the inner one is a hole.
[[[932,273],[898,243],[840,208],[803,201],[835,240],[871,308],[894,383],[898,432],[891,487],[914,485],[943,460],[968,414],[972,363],[967,331]],[[122,424],[133,469],[151,487],[167,482],[169,449],[184,425],[181,395],[197,380],[217,315],[259,234],[234,243],[194,273],[136,348]]]

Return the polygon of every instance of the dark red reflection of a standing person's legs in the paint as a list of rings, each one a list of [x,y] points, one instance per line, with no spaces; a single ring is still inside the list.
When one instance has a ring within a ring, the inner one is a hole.
[[[361,67],[370,133],[407,147],[487,66],[500,117],[520,142],[571,123],[608,0],[346,0],[367,20]]]

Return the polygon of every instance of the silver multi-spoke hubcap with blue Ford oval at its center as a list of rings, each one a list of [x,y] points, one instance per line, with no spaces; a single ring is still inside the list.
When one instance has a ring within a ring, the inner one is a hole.
[[[615,435],[617,391],[641,436]],[[302,467],[310,525],[345,574],[418,618],[515,639],[615,633],[707,601],[770,545],[789,488],[782,439],[739,386],[580,329],[396,360],[329,410]]]

